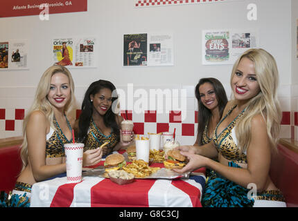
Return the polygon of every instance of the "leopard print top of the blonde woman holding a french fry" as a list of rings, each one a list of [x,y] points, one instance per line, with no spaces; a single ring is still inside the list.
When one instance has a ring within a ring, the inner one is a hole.
[[[67,116],[65,116],[65,118],[67,119]],[[64,144],[71,143],[72,138],[68,140],[67,137],[65,137],[55,117],[53,124],[55,125],[55,130],[50,128],[50,132],[46,135],[46,158],[65,157]],[[68,119],[67,125],[69,126],[69,130],[72,131]]]

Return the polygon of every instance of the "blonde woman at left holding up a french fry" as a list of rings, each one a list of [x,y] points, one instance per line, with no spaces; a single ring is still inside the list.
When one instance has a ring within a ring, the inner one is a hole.
[[[24,119],[23,169],[12,191],[13,206],[30,204],[31,186],[35,182],[66,172],[64,144],[73,139],[74,119],[67,119],[75,104],[73,90],[71,73],[63,66],[51,66],[42,75],[33,105]]]

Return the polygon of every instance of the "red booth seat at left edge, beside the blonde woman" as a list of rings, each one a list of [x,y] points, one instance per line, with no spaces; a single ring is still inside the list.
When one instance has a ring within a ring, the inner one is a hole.
[[[20,145],[0,148],[0,191],[12,191],[21,171]]]

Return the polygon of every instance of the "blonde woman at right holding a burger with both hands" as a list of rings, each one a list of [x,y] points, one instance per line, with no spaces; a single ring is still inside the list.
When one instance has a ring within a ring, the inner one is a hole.
[[[189,164],[177,172],[202,166],[215,171],[207,181],[203,206],[286,206],[269,176],[281,122],[278,81],[274,57],[263,49],[247,50],[234,64],[230,81],[234,97],[212,142],[179,147]],[[216,154],[219,162],[211,160]]]

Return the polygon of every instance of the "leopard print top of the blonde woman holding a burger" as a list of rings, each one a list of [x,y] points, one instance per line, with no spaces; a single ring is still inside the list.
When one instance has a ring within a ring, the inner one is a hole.
[[[213,142],[216,145],[216,148],[218,151],[222,154],[223,157],[225,157],[227,160],[231,160],[234,162],[239,163],[247,163],[247,156],[246,153],[240,153],[240,150],[237,147],[237,140],[235,131],[233,128],[235,127],[236,123],[240,119],[240,117],[243,116],[245,109],[241,111],[241,113],[219,134],[217,135],[218,126],[222,123],[222,121],[231,114],[231,112],[236,108],[236,105],[233,106],[228,112],[225,117],[223,117],[218,125],[216,126],[216,129],[213,133]]]

